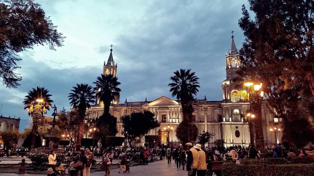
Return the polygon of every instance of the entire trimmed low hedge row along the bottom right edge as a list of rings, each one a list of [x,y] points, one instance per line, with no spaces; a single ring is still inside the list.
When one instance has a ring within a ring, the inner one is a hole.
[[[225,163],[221,167],[223,176],[304,176],[314,173],[314,164],[262,165]]]

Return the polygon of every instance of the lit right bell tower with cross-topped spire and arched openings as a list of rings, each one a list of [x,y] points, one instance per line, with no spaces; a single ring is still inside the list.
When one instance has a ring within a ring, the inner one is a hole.
[[[224,101],[238,102],[240,100],[237,95],[239,90],[236,90],[235,87],[240,84],[240,81],[236,79],[238,77],[236,72],[241,69],[241,55],[238,53],[236,44],[233,40],[234,31],[232,30],[231,33],[231,47],[228,54],[226,53],[226,80],[222,82],[221,87]]]

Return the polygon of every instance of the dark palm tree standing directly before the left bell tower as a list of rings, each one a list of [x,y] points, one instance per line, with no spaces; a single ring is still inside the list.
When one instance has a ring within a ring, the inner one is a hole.
[[[99,97],[100,101],[104,102],[104,114],[109,114],[110,103],[115,97],[120,96],[121,89],[118,85],[121,83],[117,77],[113,75],[103,75],[97,77],[97,80],[93,82],[96,86],[94,91],[96,96]]]

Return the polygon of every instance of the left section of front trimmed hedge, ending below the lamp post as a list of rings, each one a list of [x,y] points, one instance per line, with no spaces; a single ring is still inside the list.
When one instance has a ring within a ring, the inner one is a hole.
[[[246,165],[246,164],[224,163],[221,167],[221,174],[223,176],[262,176],[263,170],[264,170],[264,166],[257,165],[257,164]]]

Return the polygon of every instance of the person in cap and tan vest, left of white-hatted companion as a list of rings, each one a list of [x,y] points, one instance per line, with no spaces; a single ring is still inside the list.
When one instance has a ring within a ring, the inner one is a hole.
[[[191,142],[185,144],[187,150],[187,171],[192,170],[191,176],[195,176],[198,168],[198,151],[193,147]]]

